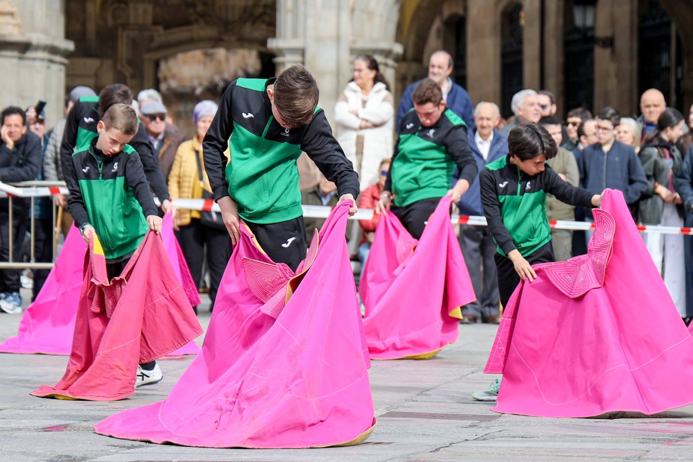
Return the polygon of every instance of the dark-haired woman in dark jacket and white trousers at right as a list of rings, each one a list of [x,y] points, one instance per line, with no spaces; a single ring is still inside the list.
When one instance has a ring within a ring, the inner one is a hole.
[[[640,224],[683,226],[682,200],[676,188],[682,159],[676,141],[683,134],[684,123],[681,112],[667,107],[643,142],[638,155],[647,177],[647,190],[638,202]],[[683,236],[644,233],[643,238],[679,314],[687,317]]]

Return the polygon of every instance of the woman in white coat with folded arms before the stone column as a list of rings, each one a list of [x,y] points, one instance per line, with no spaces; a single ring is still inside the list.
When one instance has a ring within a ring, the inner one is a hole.
[[[394,103],[371,55],[353,60],[353,79],[335,105],[337,141],[359,174],[361,190],[380,179],[380,161],[392,157]]]

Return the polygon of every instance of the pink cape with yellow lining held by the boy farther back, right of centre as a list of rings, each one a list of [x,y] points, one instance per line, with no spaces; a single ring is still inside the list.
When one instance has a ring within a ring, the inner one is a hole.
[[[373,359],[428,359],[457,340],[459,307],[476,299],[443,197],[419,242],[388,212],[361,275]]]

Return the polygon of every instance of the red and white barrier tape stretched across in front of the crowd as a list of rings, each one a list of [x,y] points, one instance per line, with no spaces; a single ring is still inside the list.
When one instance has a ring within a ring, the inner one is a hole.
[[[11,186],[0,181],[0,197],[45,197],[55,194],[67,194],[67,188],[46,187],[46,186]],[[184,208],[187,210],[199,211],[215,211],[220,212],[220,208],[213,199],[173,199],[173,206]],[[157,201],[158,204],[158,201]],[[330,215],[332,207],[320,205],[305,205],[303,206],[304,217],[308,218],[326,218]],[[373,218],[373,210],[370,208],[360,208],[356,215],[349,217],[350,220],[371,220]],[[487,226],[486,217],[476,215],[453,215],[453,224],[471,224],[473,226]],[[589,222],[574,222],[570,220],[549,220],[552,229],[568,229],[572,231],[588,231],[595,229],[594,223]],[[654,224],[638,225],[638,230],[641,233],[660,233],[660,234],[683,234],[693,235],[693,228],[685,226],[659,226]]]

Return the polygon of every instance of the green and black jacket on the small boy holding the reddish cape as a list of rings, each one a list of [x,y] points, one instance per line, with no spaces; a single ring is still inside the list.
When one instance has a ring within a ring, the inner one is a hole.
[[[67,206],[78,226],[89,223],[107,260],[130,256],[147,233],[146,216],[157,215],[139,154],[130,145],[107,156],[96,149],[75,152],[64,169],[70,194]],[[67,177],[67,172],[71,175]]]

